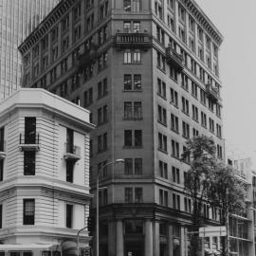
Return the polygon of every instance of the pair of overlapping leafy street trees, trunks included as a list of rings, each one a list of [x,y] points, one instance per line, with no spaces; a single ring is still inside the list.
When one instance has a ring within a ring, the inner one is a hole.
[[[225,166],[216,158],[216,146],[211,137],[193,137],[186,142],[187,150],[182,159],[191,158],[191,169],[185,179],[185,192],[192,199],[191,255],[197,256],[200,250],[196,231],[204,225],[203,202],[220,210],[221,225],[227,226],[227,212],[245,208],[245,186],[230,166]],[[227,241],[221,241],[222,255],[225,256]]]

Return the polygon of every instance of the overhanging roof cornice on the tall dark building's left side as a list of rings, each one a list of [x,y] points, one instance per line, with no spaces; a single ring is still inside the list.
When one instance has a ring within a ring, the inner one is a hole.
[[[44,37],[46,31],[56,25],[57,21],[63,17],[64,13],[76,2],[77,0],[63,0],[61,1],[50,13],[46,16],[45,20],[36,27],[25,41],[18,46],[19,51],[25,54],[29,48],[34,46],[40,38]]]

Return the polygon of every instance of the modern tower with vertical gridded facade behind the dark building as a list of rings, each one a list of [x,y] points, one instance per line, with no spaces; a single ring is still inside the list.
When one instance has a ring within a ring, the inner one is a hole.
[[[21,84],[18,45],[59,0],[0,0],[0,101]]]

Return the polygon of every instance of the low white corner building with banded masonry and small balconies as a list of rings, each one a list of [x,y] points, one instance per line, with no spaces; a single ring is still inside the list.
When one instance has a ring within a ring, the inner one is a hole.
[[[0,110],[0,251],[76,247],[92,198],[89,112],[44,89],[20,89]]]

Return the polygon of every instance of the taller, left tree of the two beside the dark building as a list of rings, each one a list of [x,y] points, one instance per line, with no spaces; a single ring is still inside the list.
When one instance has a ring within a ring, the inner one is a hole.
[[[203,200],[208,198],[210,176],[217,165],[216,146],[211,137],[192,137],[186,142],[187,150],[182,159],[191,158],[191,169],[185,179],[185,192],[192,198],[191,255],[197,256],[200,249],[198,230],[203,226]]]

